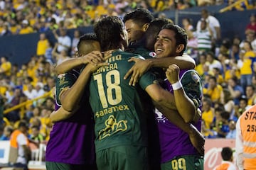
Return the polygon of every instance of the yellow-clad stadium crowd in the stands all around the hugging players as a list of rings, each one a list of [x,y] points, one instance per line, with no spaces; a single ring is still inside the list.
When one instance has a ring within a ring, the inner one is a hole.
[[[9,62],[8,57],[0,56],[0,140],[9,140],[18,123],[25,120],[31,140],[38,143],[48,141],[52,127],[49,115],[55,108],[51,95],[56,77],[54,67],[75,56],[81,35],[78,28],[92,26],[101,16],[122,17],[134,8],[148,8],[154,13],[232,3],[234,1],[231,0],[0,1],[0,36],[40,33],[36,54],[26,64],[19,66]],[[245,1],[232,10],[255,8],[253,1]],[[162,14],[158,17],[165,17]],[[191,23],[190,18],[183,19],[182,23],[189,35],[187,52],[196,60],[196,70],[204,83],[203,135],[206,138],[235,138],[236,120],[245,109],[256,103],[256,16],[252,13],[248,25],[242,30],[244,39],[209,38],[209,42],[215,44],[210,48],[198,48],[200,35],[196,23]],[[69,29],[77,29],[72,37],[67,35]],[[48,31],[55,36],[55,44],[47,38]],[[47,97],[4,114],[7,109],[42,95]]]

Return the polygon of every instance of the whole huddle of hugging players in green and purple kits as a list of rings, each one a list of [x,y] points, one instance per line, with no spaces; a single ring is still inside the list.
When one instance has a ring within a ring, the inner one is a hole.
[[[55,68],[46,169],[203,169],[202,82],[186,44],[142,8],[97,21]]]

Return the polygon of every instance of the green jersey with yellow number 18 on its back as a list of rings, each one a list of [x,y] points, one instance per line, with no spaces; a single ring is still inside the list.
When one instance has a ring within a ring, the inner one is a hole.
[[[141,57],[117,50],[107,60],[110,64],[100,67],[90,80],[90,105],[95,118],[96,152],[119,145],[147,145],[146,115],[140,91],[154,84],[151,72],[139,79],[137,86],[129,86],[124,75],[134,62],[130,57]]]

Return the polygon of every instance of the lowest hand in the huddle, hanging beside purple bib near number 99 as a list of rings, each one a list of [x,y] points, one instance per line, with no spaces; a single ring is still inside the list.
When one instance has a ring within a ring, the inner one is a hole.
[[[191,140],[191,143],[193,147],[196,148],[198,153],[203,156],[204,155],[204,145],[205,145],[205,138],[199,132],[192,124],[191,124],[191,132],[188,134],[189,139]]]

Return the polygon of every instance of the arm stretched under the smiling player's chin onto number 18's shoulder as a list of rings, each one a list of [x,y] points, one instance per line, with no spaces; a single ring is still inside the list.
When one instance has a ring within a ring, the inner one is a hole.
[[[124,79],[127,79],[129,75],[132,74],[129,84],[135,86],[139,77],[142,77],[146,71],[152,67],[167,68],[170,64],[177,64],[181,69],[194,69],[196,67],[196,62],[189,55],[177,56],[177,57],[161,57],[161,58],[151,58],[147,60],[139,60],[132,57],[129,62],[135,62],[133,67],[129,69],[127,74],[125,74]]]

